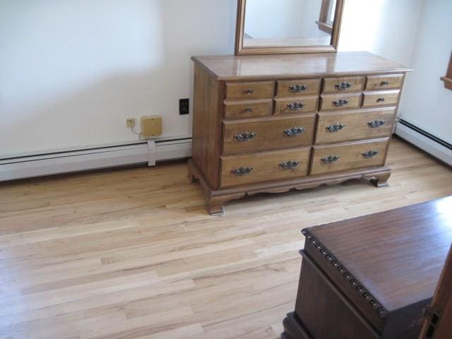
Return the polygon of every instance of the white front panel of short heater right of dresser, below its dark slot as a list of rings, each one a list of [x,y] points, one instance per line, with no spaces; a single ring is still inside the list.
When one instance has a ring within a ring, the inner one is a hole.
[[[418,148],[433,155],[442,162],[452,166],[452,150],[446,145],[442,145],[441,143],[434,141],[432,138],[429,138],[423,133],[410,128],[410,126],[402,124],[400,121],[396,122],[395,133],[400,136],[400,138],[405,139],[409,143],[412,143]]]

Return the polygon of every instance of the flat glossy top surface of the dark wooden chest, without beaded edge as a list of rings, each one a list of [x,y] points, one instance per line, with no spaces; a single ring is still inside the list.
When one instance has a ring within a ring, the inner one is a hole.
[[[391,310],[429,299],[452,242],[452,196],[307,229]]]

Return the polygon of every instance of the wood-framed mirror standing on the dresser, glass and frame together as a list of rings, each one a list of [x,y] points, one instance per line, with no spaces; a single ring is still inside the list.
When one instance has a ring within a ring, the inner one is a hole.
[[[336,52],[344,0],[239,0],[236,54]]]

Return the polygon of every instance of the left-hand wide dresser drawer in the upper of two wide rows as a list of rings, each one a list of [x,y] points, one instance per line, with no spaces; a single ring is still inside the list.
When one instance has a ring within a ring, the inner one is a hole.
[[[223,154],[311,145],[316,114],[223,121]]]

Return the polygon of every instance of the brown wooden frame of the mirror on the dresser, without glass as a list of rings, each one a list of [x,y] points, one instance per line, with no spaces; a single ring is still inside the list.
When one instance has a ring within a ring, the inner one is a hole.
[[[322,0],[322,6],[328,0]],[[331,32],[331,44],[328,46],[274,46],[244,47],[246,0],[237,0],[237,24],[235,30],[235,55],[252,54],[291,54],[291,53],[335,53],[338,52],[340,25],[345,0],[336,0],[335,20]],[[317,21],[316,21],[317,23]]]

